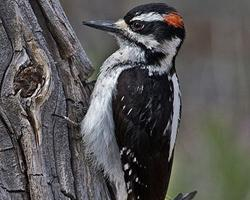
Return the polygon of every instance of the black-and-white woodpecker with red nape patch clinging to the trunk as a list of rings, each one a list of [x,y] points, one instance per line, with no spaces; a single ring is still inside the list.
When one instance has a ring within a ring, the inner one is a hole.
[[[135,7],[116,22],[84,21],[120,48],[102,65],[81,122],[87,155],[117,200],[165,198],[181,114],[175,58],[183,19],[163,3]]]

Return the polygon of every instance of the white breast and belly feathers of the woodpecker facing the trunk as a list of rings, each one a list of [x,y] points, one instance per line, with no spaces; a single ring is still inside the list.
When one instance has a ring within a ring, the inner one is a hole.
[[[101,67],[89,109],[81,123],[81,133],[86,155],[96,168],[103,169],[105,175],[116,185],[117,199],[127,198],[120,152],[116,143],[112,96],[117,79],[122,71],[133,65],[119,65],[131,58],[141,61],[142,52],[138,48],[123,48],[111,55]],[[119,66],[117,66],[119,65]]]

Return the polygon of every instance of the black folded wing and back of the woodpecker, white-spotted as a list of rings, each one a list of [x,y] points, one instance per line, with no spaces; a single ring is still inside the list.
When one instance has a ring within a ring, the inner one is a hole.
[[[164,199],[172,167],[172,81],[167,74],[149,76],[146,69],[125,70],[118,78],[113,114],[128,199]]]

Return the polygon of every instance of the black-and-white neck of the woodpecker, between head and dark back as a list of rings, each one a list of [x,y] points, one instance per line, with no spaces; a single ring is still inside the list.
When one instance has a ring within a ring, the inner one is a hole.
[[[148,69],[149,75],[165,74],[170,72],[174,66],[179,44],[180,39],[173,39],[154,48],[145,48],[143,45],[119,41],[120,48],[105,61],[103,67],[132,65]]]

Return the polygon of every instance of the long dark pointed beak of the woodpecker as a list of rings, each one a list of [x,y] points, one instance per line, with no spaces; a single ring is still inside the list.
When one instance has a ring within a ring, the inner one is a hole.
[[[102,20],[83,21],[82,24],[86,25],[86,26],[90,26],[92,28],[107,31],[110,33],[119,33],[120,32],[119,27],[114,22],[111,22],[111,21],[102,21]]]

